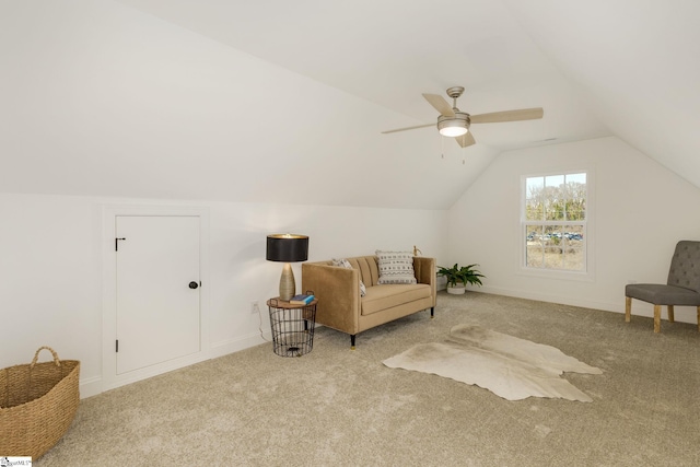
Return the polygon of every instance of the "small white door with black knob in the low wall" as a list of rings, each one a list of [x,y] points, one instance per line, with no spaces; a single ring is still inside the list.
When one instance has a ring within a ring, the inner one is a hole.
[[[199,217],[117,215],[117,374],[200,350]]]

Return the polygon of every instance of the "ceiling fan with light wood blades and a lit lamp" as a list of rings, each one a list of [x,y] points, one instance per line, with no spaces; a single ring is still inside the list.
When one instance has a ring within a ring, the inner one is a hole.
[[[471,136],[471,131],[469,131],[469,127],[471,126],[471,124],[497,124],[501,121],[535,120],[537,118],[542,118],[542,116],[545,115],[545,112],[541,107],[469,115],[466,112],[462,112],[457,108],[457,98],[462,95],[463,92],[464,87],[462,86],[453,86],[447,90],[447,95],[453,100],[452,107],[441,95],[423,94],[425,101],[428,101],[430,105],[432,105],[438,112],[440,112],[440,116],[438,117],[438,130],[440,130],[440,135],[445,137],[454,137],[457,140],[457,143],[463,148],[476,143],[474,136]],[[416,127],[398,128],[396,130],[382,131],[382,133],[386,135],[397,131],[415,130],[417,128],[432,127],[433,125],[434,124],[428,124],[418,125]]]

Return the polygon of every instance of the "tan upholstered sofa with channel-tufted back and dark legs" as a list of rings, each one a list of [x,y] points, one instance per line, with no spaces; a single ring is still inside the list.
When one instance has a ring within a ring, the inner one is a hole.
[[[377,284],[376,256],[346,258],[351,269],[332,266],[332,261],[304,262],[302,289],[318,299],[316,323],[355,336],[363,330],[430,308],[435,312],[435,259],[417,256],[413,270],[417,284]],[[366,288],[360,296],[360,281]]]

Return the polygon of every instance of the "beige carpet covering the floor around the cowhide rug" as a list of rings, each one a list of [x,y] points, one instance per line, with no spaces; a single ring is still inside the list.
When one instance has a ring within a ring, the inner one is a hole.
[[[444,341],[463,323],[602,369],[565,374],[593,402],[510,401],[382,364],[410,346]],[[314,350],[301,358],[279,357],[267,342],[89,397],[66,436],[34,465],[700,465],[695,323],[665,322],[655,334],[649,317],[625,323],[619,313],[439,292],[434,319],[417,313],[361,332],[357,343],[350,350],[347,334],[320,327]]]

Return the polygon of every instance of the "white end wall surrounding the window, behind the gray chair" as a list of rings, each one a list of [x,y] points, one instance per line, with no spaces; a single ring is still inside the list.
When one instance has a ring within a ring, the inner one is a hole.
[[[521,176],[582,168],[593,178],[591,280],[522,273]],[[623,312],[626,283],[664,283],[676,242],[700,238],[698,206],[700,189],[615,137],[510,151],[451,208],[448,262],[480,264],[485,292]],[[677,310],[696,323],[695,307]]]

